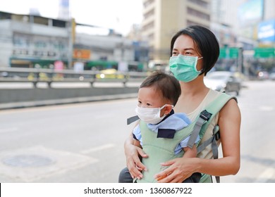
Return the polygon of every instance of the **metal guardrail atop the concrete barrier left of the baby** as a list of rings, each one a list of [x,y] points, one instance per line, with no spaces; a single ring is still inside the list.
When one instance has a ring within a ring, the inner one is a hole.
[[[109,70],[111,71],[111,70]],[[0,82],[32,82],[37,87],[39,82],[142,82],[148,72],[121,72],[108,73],[106,70],[54,70],[44,68],[0,68]]]

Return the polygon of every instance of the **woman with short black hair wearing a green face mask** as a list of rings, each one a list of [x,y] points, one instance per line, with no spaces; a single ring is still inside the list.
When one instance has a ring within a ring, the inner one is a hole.
[[[171,39],[170,70],[180,81],[181,96],[174,110],[176,113],[186,113],[190,120],[207,104],[214,101],[219,94],[205,86],[203,77],[211,70],[219,58],[219,42],[215,35],[205,27],[193,25],[177,32]],[[214,125],[220,128],[220,141],[223,157],[212,159],[211,146],[202,151],[197,158],[176,158],[161,165],[169,166],[155,175],[155,178],[165,177],[159,182],[183,182],[195,172],[212,176],[236,174],[240,168],[240,110],[236,100],[231,99],[213,118],[202,141],[212,135]],[[118,182],[130,182],[130,178],[142,179],[140,170],[146,166],[140,161],[140,156],[146,158],[141,148],[133,145],[133,135],[126,139],[125,154],[127,168],[121,171]],[[138,168],[137,168],[138,167]],[[130,173],[130,174],[129,174]],[[203,182],[212,182],[211,177]]]

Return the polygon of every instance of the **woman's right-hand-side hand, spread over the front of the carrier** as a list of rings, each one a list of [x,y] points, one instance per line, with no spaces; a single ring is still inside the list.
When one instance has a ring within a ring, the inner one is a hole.
[[[194,158],[176,158],[161,163],[162,166],[169,166],[166,170],[159,172],[154,176],[159,183],[182,183],[197,172],[194,166]]]

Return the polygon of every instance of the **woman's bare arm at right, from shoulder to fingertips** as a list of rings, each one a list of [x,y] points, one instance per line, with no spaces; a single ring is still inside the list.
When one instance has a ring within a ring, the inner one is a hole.
[[[218,124],[223,158],[176,158],[161,164],[170,167],[156,174],[156,179],[169,174],[159,182],[183,182],[194,172],[212,176],[236,174],[240,169],[240,109],[235,100],[231,99],[221,109]]]

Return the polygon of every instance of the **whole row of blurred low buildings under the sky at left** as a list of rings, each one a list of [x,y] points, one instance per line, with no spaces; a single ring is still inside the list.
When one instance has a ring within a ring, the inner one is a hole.
[[[77,27],[87,30],[79,32]],[[104,36],[91,34],[94,28],[100,27],[75,23],[74,19],[0,12],[0,66],[51,68],[57,61],[64,68],[81,62],[90,65],[85,67],[88,69],[104,69],[147,61],[146,42],[127,39],[112,30]]]

